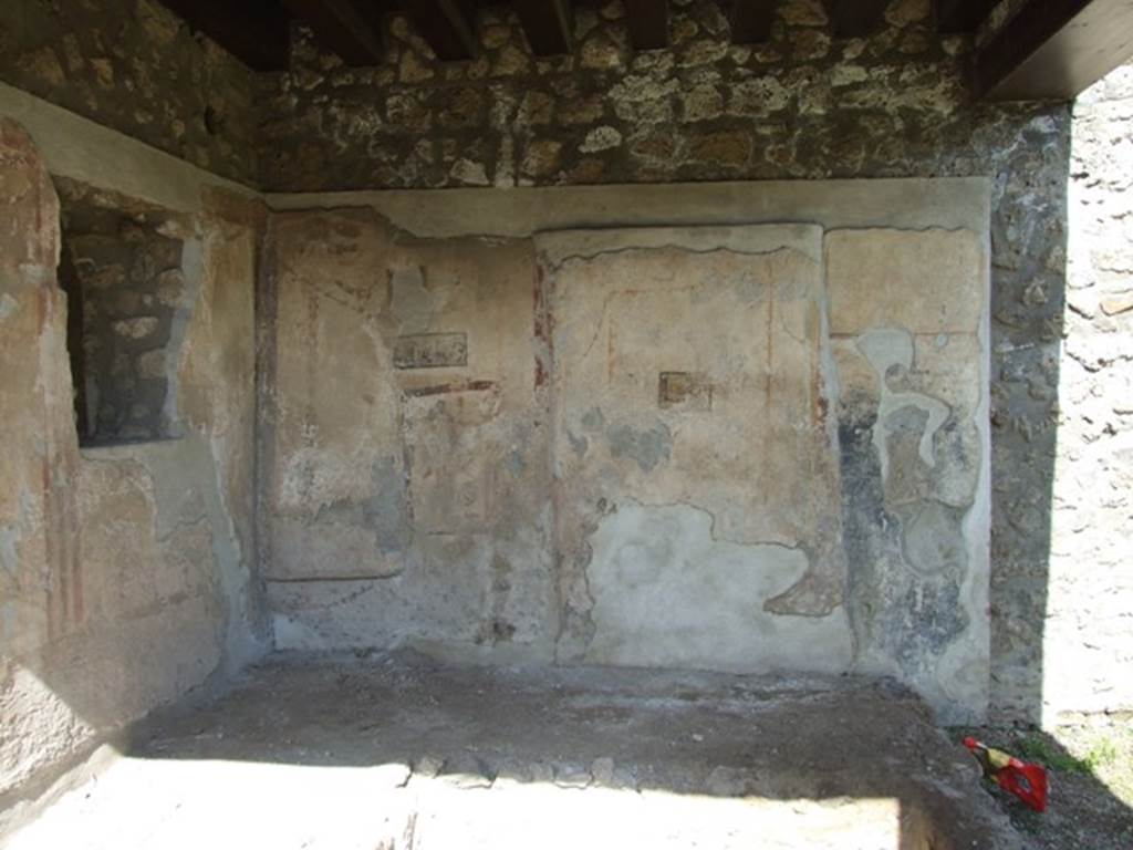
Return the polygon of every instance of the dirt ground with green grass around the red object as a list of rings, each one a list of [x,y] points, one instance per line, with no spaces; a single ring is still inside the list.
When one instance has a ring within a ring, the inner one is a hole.
[[[1133,849],[1133,721],[1066,726],[1053,733],[1028,729],[957,729],[1047,768],[1050,791],[1039,814],[989,788],[1036,850]]]

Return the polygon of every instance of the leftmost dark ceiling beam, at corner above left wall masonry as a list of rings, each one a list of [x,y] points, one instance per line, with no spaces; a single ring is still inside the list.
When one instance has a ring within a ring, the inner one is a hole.
[[[283,70],[291,25],[276,0],[162,0],[193,29],[204,33],[253,70]]]

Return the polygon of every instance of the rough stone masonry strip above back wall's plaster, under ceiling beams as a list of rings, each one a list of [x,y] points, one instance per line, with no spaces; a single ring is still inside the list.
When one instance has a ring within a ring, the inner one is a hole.
[[[819,3],[783,0],[755,45],[730,42],[716,0],[671,6],[671,49],[638,53],[616,0],[576,5],[576,50],[550,58],[530,56],[503,5],[480,11],[482,50],[463,62],[436,61],[401,17],[373,68],[343,67],[299,28],[291,70],[257,78],[263,185],[973,175],[1032,120],[1055,122],[1030,130],[1042,136],[1066,118],[973,104],[971,40],[937,36],[928,0],[892,3],[879,32],[850,40],[833,37]]]

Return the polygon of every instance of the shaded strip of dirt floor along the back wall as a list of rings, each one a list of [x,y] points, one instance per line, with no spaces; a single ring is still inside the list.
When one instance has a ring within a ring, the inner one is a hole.
[[[902,849],[1021,847],[928,709],[892,682],[853,677],[286,654],[218,699],[154,715],[131,755],[399,764],[469,788],[512,780],[830,808],[894,800]]]

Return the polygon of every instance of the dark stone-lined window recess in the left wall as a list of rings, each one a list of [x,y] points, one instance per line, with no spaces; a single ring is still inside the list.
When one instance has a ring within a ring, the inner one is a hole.
[[[80,445],[163,440],[184,240],[162,216],[60,192],[59,283]]]

